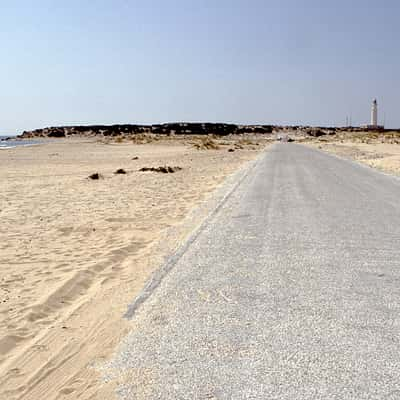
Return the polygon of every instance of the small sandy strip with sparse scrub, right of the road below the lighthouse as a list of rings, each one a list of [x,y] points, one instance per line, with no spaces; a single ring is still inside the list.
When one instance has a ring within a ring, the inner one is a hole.
[[[377,168],[383,172],[400,175],[400,145],[395,143],[360,143],[358,141],[321,141],[310,146]]]

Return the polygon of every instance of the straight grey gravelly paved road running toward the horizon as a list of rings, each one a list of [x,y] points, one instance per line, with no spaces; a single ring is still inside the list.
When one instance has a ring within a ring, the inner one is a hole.
[[[400,399],[400,181],[275,145],[132,324],[122,399]]]

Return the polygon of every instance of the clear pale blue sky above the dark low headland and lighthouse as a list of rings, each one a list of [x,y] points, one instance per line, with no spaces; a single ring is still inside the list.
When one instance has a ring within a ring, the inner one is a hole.
[[[0,133],[63,124],[400,127],[398,0],[0,5]],[[383,111],[382,111],[383,114]]]

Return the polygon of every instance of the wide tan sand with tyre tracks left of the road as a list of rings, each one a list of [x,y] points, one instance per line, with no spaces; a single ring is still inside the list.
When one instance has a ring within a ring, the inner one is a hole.
[[[241,147],[75,139],[0,152],[1,399],[113,398],[93,367],[126,335],[122,315],[163,253],[190,230],[166,238],[167,228],[263,146]],[[183,169],[138,172],[160,165]],[[87,179],[94,172],[104,179]]]

